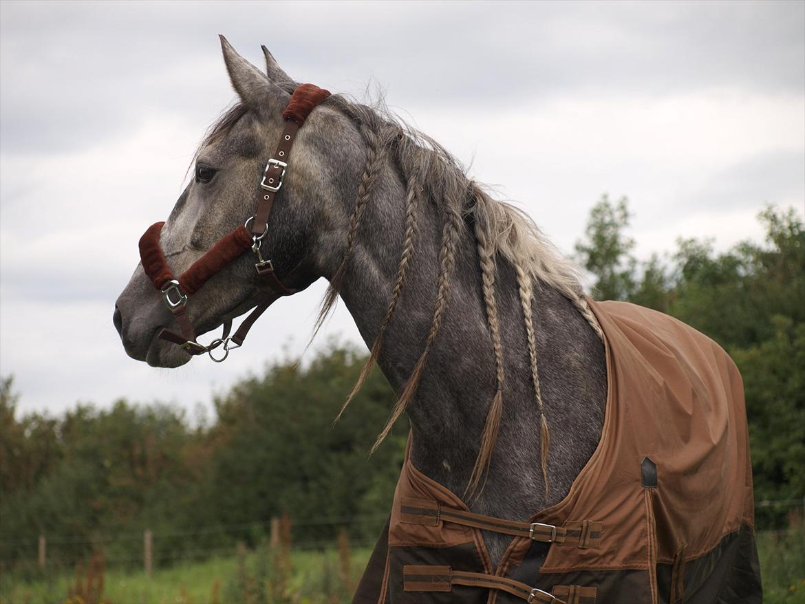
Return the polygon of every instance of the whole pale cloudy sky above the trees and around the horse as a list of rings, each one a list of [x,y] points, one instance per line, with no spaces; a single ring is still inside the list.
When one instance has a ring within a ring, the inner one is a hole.
[[[128,358],[114,301],[234,93],[217,34],[262,68],[374,98],[515,201],[566,253],[629,197],[637,254],[762,240],[805,212],[805,2],[0,2],[0,374],[20,412],[125,397],[191,412],[308,343],[325,283],[225,363]],[[211,337],[211,335],[208,335]],[[343,305],[307,356],[363,346]],[[346,393],[345,393],[346,394]]]

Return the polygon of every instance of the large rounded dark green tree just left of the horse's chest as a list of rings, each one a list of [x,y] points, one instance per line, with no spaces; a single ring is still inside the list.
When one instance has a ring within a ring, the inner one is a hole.
[[[339,527],[299,520],[374,516],[350,528],[363,539],[377,535],[390,507],[407,432],[394,436],[372,457],[369,448],[394,401],[379,371],[369,376],[341,420],[341,403],[365,356],[332,346],[307,368],[286,362],[262,379],[238,383],[217,399],[217,427],[210,438],[225,441],[213,453],[211,502],[219,521],[267,523],[288,511],[296,539],[333,538]],[[248,489],[242,485],[249,485]]]

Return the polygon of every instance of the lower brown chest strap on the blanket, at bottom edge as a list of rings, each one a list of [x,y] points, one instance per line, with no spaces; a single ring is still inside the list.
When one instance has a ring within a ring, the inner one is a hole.
[[[557,585],[553,594],[531,587],[508,577],[485,573],[469,573],[453,570],[449,566],[404,565],[404,591],[452,591],[453,585],[467,585],[489,590],[502,590],[512,594],[527,604],[595,604],[596,589],[579,585]],[[572,597],[572,600],[559,599],[559,595]]]

